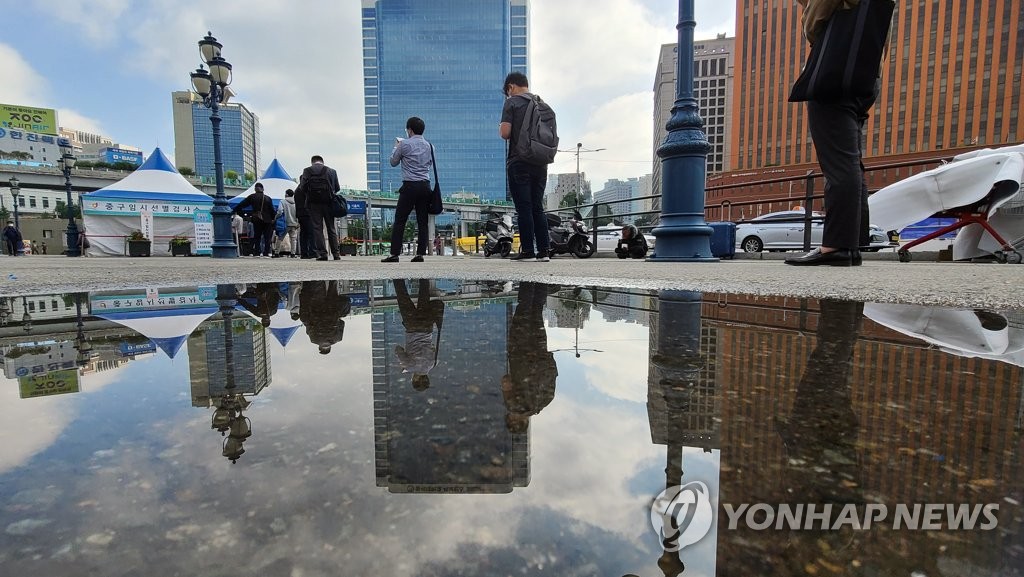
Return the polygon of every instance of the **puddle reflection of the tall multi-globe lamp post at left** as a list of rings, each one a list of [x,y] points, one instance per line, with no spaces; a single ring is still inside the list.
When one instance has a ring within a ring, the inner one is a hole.
[[[217,285],[217,304],[220,305],[221,322],[224,325],[224,388],[225,394],[213,401],[213,418],[210,427],[219,430],[221,436],[226,435],[221,447],[221,454],[236,463],[239,457],[246,452],[246,439],[252,436],[252,423],[249,418],[242,414],[247,409],[250,402],[242,396],[236,394],[234,388],[234,332],[232,331],[232,317],[234,305],[238,302],[238,293],[234,285]]]

